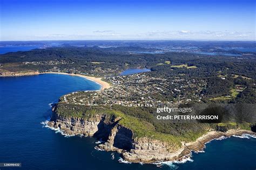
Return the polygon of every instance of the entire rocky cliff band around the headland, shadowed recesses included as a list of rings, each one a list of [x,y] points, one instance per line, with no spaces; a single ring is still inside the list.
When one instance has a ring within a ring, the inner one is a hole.
[[[105,151],[115,151],[130,162],[152,163],[156,161],[173,161],[189,158],[191,151],[201,151],[207,141],[221,136],[253,133],[244,130],[229,130],[227,132],[209,131],[204,136],[191,143],[183,142],[179,148],[160,140],[151,138],[134,138],[133,131],[119,124],[120,118],[106,120],[106,115],[95,115],[92,118],[72,118],[60,116],[53,108],[49,126],[59,128],[66,134],[83,134],[94,136],[105,141],[96,146]]]

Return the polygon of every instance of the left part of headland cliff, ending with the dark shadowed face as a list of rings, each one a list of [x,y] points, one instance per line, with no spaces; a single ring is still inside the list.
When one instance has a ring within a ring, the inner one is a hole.
[[[133,133],[130,129],[118,124],[118,121],[119,118],[106,121],[105,115],[96,115],[89,119],[64,117],[58,115],[53,108],[52,117],[48,125],[53,128],[59,128],[66,134],[83,134],[84,136],[103,139],[106,141],[104,148],[108,151],[112,151],[113,148],[131,150],[133,148]]]

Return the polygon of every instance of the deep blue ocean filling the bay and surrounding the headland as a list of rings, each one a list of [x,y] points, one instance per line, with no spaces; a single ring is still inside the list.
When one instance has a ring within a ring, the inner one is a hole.
[[[83,77],[61,74],[0,77],[0,162],[22,163],[21,168],[12,169],[256,168],[253,137],[213,140],[204,153],[193,153],[187,162],[166,162],[160,168],[125,163],[117,153],[95,150],[97,140],[92,137],[64,136],[44,127],[42,123],[51,116],[51,104],[60,96],[99,88]]]

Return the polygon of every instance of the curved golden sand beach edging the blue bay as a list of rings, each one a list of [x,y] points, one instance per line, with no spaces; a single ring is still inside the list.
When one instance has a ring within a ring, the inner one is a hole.
[[[80,75],[80,74],[69,74],[69,73],[58,73],[58,72],[46,72],[46,73],[39,73],[39,74],[64,74],[64,75],[71,75],[71,76],[79,76],[100,84],[101,86],[100,90],[108,89],[111,87],[109,83],[102,80],[102,77],[91,77],[91,76]]]

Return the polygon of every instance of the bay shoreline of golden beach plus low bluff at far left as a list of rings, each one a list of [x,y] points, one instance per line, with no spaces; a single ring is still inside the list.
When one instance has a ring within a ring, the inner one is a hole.
[[[18,77],[18,76],[30,76],[30,75],[39,75],[39,74],[63,74],[63,75],[70,75],[70,76],[79,76],[83,77],[87,80],[93,81],[100,85],[99,90],[108,89],[111,85],[102,80],[102,77],[93,77],[93,76],[86,76],[82,74],[69,74],[69,73],[61,73],[61,72],[3,72],[0,77]]]

